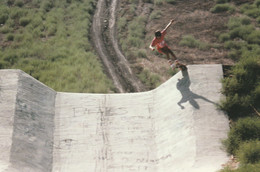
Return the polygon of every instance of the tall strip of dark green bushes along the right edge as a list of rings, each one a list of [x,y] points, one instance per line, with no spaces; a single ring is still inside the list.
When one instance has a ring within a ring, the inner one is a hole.
[[[229,57],[237,61],[229,77],[223,80],[226,99],[221,103],[233,121],[224,144],[240,161],[236,172],[260,170],[260,32],[254,23],[260,17],[259,4],[256,0],[238,6],[246,16],[231,17],[228,32],[219,35],[219,40],[230,50]],[[222,170],[229,171],[229,167]]]

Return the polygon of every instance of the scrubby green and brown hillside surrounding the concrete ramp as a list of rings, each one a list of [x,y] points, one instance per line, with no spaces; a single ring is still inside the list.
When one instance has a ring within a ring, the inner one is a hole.
[[[95,47],[91,40],[98,2],[1,1],[0,69],[21,69],[56,91],[118,92],[95,49],[101,47]],[[108,9],[115,8],[110,3],[118,2],[113,39],[118,40],[134,80],[144,85],[140,90],[154,89],[177,72],[170,69],[165,56],[148,48],[154,31],[173,18],[175,23],[166,41],[180,61],[232,66],[222,81],[226,99],[220,108],[229,115],[232,127],[225,145],[228,153],[241,162],[242,171],[259,169],[260,0],[102,2],[107,8],[100,18],[102,28],[96,29],[102,31],[105,48],[110,52],[113,46]],[[124,65],[118,65],[114,52],[107,54],[112,68],[117,69],[115,73],[123,76]],[[125,81],[122,90],[135,92],[127,76],[121,79]]]

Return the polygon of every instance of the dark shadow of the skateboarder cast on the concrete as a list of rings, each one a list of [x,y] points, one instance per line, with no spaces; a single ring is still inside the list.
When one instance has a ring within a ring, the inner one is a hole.
[[[193,93],[190,90],[190,77],[189,77],[189,73],[188,71],[182,71],[182,79],[179,79],[178,83],[177,83],[177,89],[181,92],[182,98],[181,100],[177,103],[182,109],[184,109],[184,106],[182,106],[182,103],[185,102],[189,102],[194,108],[199,109],[200,106],[199,104],[196,102],[195,99],[202,99],[206,102],[212,103],[212,104],[216,104],[215,102],[200,96],[198,94]]]

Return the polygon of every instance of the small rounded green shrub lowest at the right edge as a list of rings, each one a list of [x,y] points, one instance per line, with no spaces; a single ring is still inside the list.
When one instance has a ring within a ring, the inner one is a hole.
[[[260,141],[248,141],[239,146],[237,156],[242,164],[256,164],[260,162]]]

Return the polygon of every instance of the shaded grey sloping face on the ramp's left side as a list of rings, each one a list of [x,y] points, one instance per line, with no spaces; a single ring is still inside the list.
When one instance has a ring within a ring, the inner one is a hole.
[[[52,89],[19,73],[8,172],[52,171],[55,96]]]

